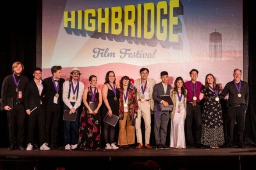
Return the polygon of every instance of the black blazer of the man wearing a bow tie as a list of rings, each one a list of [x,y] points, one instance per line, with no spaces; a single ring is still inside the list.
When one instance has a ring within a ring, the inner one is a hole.
[[[65,82],[64,78],[60,78],[60,85],[59,85],[59,92],[58,94],[60,95],[60,105],[63,106],[63,100],[62,100],[62,88],[63,88],[63,83]],[[43,88],[44,88],[44,104],[45,106],[48,104],[49,102],[49,92],[50,92],[50,87],[53,87],[53,81],[52,81],[52,77],[48,77],[43,79]]]

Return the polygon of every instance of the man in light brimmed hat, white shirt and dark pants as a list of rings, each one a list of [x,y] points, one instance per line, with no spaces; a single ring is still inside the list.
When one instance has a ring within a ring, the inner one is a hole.
[[[63,84],[63,109],[69,109],[69,114],[76,114],[75,121],[64,120],[63,122],[65,150],[75,149],[78,144],[78,111],[84,91],[84,84],[79,81],[80,75],[82,74],[79,69],[73,68],[70,72],[70,78]]]

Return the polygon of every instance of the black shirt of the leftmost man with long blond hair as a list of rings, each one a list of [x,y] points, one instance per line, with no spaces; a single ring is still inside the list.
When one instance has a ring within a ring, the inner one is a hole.
[[[14,74],[15,75],[15,74]],[[3,84],[2,84],[2,90],[1,90],[1,99],[3,101],[3,105],[6,106],[6,98],[12,98],[13,102],[23,102],[24,101],[24,90],[26,84],[29,82],[28,78],[25,75],[15,75],[16,81],[20,79],[19,85],[18,85],[18,91],[21,91],[22,93],[22,99],[18,99],[18,92],[15,91],[17,86],[14,83],[14,79],[11,75],[7,75],[4,78]]]

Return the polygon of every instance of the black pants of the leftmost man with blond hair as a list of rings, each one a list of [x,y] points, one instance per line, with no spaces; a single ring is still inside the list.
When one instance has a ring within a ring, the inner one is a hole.
[[[7,111],[9,127],[9,140],[11,145],[23,146],[25,110],[23,105],[13,105],[13,109]]]

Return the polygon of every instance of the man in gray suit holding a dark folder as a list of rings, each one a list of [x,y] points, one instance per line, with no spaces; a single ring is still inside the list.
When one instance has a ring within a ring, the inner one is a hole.
[[[154,104],[154,132],[156,139],[157,149],[167,149],[165,145],[167,125],[170,119],[170,111],[161,111],[160,105],[168,106],[168,102],[160,99],[160,95],[170,95],[171,85],[168,84],[168,73],[167,71],[161,72],[161,82],[156,84],[153,89]]]

